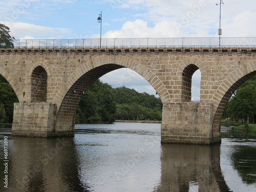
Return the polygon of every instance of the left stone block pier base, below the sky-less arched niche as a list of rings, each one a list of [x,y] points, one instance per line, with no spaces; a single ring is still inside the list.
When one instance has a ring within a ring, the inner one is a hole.
[[[14,103],[12,136],[54,137],[56,104]]]

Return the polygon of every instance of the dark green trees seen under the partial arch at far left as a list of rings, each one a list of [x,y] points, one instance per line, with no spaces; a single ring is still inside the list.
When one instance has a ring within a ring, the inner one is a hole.
[[[18,102],[18,98],[8,81],[0,75],[0,121],[11,123],[13,120],[13,105]],[[4,109],[3,109],[4,108]],[[4,118],[4,112],[6,117]]]

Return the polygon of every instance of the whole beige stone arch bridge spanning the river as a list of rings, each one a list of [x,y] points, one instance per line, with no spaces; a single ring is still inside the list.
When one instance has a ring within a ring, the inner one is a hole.
[[[143,76],[163,103],[161,142],[219,143],[220,121],[232,93],[256,75],[255,48],[14,48],[0,49],[0,74],[19,103],[13,136],[74,136],[84,91],[113,70]],[[191,77],[201,71],[200,101]]]

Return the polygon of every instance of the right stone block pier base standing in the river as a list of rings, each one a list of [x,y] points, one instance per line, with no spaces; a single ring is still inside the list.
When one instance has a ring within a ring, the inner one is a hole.
[[[166,103],[161,125],[162,143],[213,144],[213,104],[202,102]]]

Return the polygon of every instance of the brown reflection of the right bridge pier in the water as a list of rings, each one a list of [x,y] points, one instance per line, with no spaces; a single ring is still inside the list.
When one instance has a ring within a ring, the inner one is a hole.
[[[155,191],[230,191],[220,167],[220,145],[162,144],[162,150],[161,183]]]

